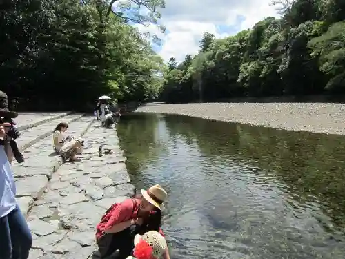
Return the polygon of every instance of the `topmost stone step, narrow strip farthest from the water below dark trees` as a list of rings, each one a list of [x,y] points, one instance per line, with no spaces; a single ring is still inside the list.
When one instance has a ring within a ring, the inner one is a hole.
[[[17,123],[17,128],[20,131],[24,131],[34,126],[50,122],[53,119],[59,119],[70,115],[70,111],[61,111],[57,113],[19,113],[18,117],[14,119]]]

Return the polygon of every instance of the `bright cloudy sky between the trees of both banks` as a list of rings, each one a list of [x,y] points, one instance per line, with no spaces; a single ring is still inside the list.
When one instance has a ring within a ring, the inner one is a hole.
[[[166,0],[161,10],[161,23],[166,32],[157,26],[136,25],[141,32],[155,33],[161,44],[152,44],[164,61],[170,57],[180,62],[186,55],[196,55],[204,32],[217,38],[235,35],[252,28],[264,17],[278,17],[271,0]]]

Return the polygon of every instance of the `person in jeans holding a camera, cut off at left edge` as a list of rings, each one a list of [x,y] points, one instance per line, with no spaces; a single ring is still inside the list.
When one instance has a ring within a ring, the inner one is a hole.
[[[17,113],[8,110],[8,97],[0,91],[0,258],[27,259],[32,247],[32,235],[19,209],[16,186],[10,162],[14,152],[8,137],[10,122]]]

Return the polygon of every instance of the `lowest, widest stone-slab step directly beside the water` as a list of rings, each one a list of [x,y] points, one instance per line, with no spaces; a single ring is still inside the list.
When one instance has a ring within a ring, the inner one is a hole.
[[[86,147],[79,155],[81,161],[63,164],[28,214],[34,238],[29,259],[91,258],[101,215],[114,202],[132,195],[134,186],[116,131],[95,122],[83,137]],[[99,157],[99,146],[112,153]]]

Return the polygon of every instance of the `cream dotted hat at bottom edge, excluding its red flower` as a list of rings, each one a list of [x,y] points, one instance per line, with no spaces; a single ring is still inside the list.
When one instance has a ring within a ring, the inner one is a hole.
[[[159,258],[162,256],[167,248],[166,240],[161,234],[157,231],[148,231],[144,233],[143,236],[139,234],[135,235],[134,245],[137,246],[141,240],[146,241],[150,247],[152,247],[152,256]]]

